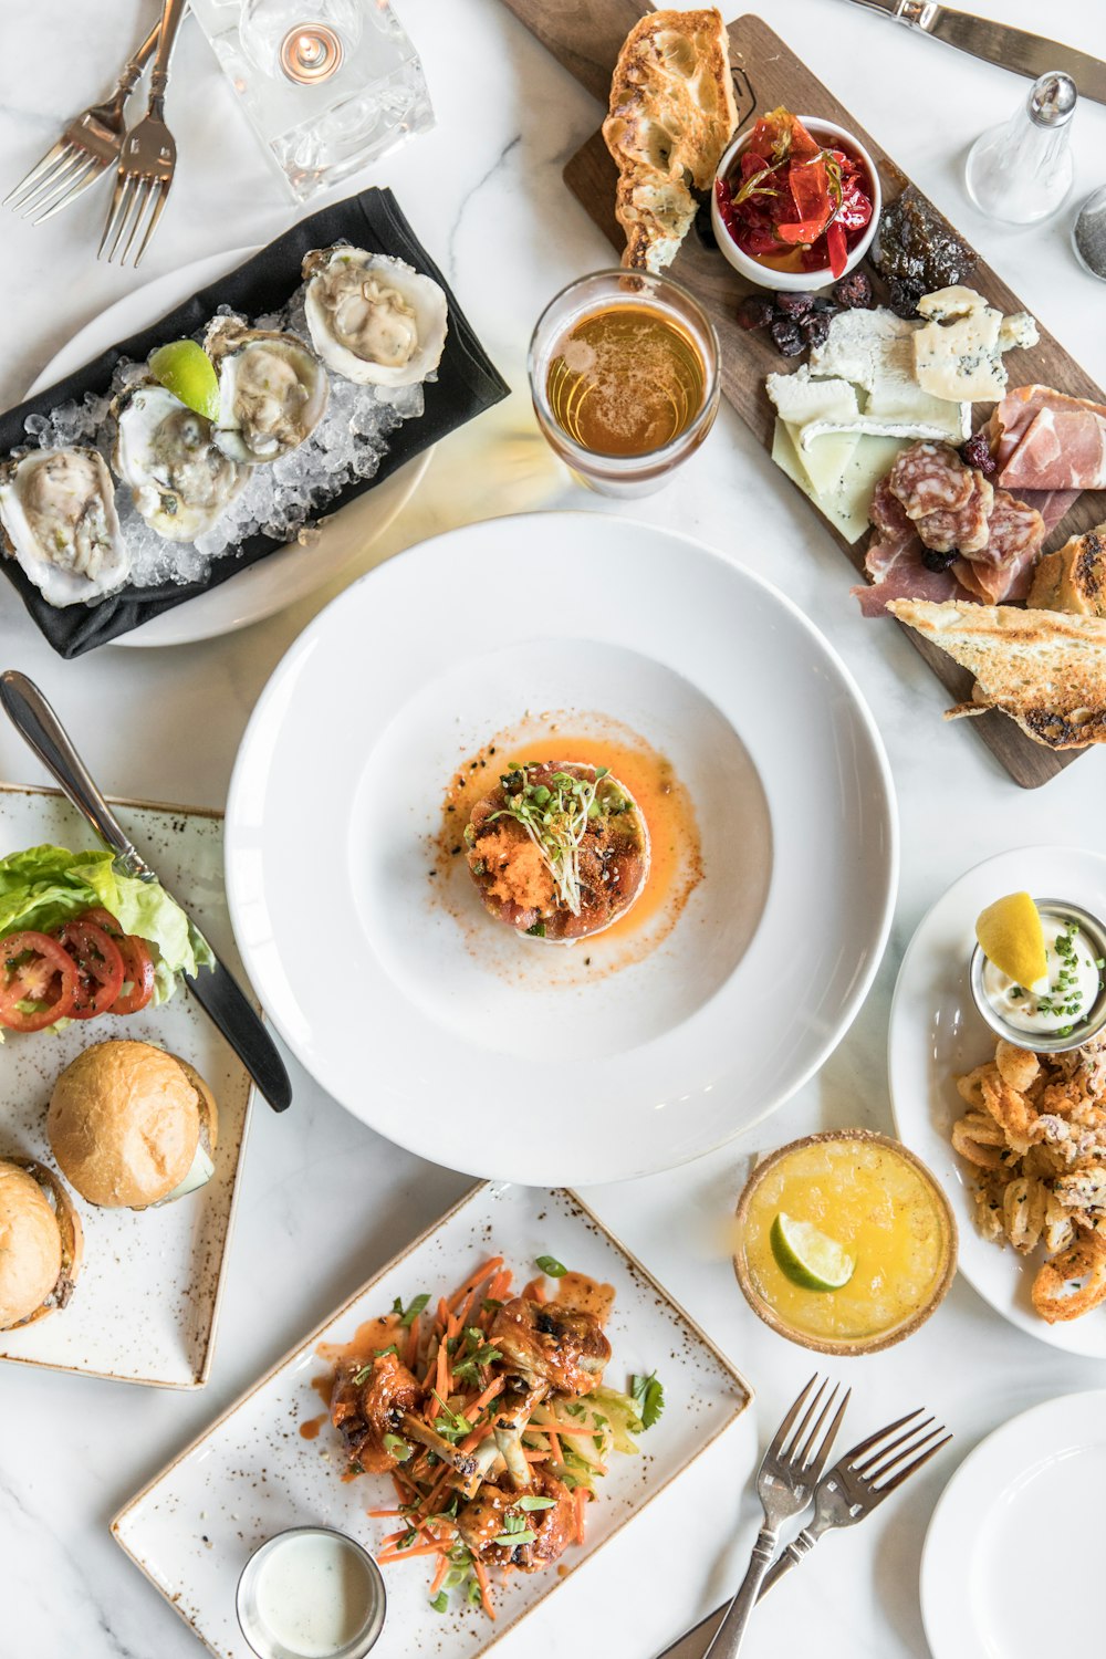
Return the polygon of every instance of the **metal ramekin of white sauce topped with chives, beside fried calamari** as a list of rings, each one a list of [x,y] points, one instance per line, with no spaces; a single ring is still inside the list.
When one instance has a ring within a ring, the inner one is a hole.
[[[1018,985],[983,954],[972,952],[975,1005],[998,1037],[1035,1053],[1079,1048],[1106,1027],[1106,924],[1066,899],[1036,899],[1048,974]]]

